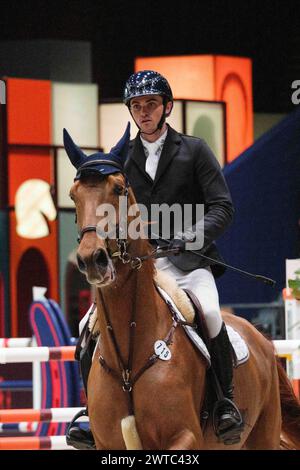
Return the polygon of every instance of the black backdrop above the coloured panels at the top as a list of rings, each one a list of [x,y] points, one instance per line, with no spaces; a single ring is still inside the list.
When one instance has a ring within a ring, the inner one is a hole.
[[[291,83],[300,79],[299,17],[292,0],[9,0],[0,7],[0,41],[90,41],[103,98],[121,96],[139,55],[243,55],[253,59],[254,110],[289,112]]]

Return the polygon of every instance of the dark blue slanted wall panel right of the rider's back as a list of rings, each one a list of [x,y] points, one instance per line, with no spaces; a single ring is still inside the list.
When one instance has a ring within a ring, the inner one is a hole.
[[[269,302],[285,287],[286,258],[300,257],[300,109],[224,168],[234,222],[218,241],[225,260],[277,281],[276,287],[227,270],[220,301]]]

